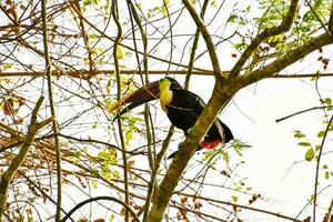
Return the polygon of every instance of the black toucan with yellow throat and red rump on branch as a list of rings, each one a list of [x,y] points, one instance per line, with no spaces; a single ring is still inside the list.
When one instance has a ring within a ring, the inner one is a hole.
[[[117,119],[129,110],[155,99],[160,99],[161,108],[167,113],[171,123],[181,129],[185,135],[205,107],[204,101],[199,95],[183,89],[175,79],[165,77],[119,100],[110,108],[110,112],[130,103],[115,115]],[[231,140],[233,140],[231,130],[220,119],[216,119],[198,150],[214,149],[219,144],[228,143]],[[176,152],[169,155],[168,159],[173,158]]]

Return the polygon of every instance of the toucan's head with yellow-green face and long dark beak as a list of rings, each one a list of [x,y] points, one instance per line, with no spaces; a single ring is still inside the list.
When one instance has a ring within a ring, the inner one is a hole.
[[[128,94],[123,99],[119,100],[115,104],[113,104],[109,111],[112,112],[125,104],[129,104],[123,110],[120,111],[119,115],[127,113],[128,111],[147,103],[149,101],[155,100],[160,98],[160,92],[164,90],[172,90],[172,89],[181,89],[182,87],[180,83],[170,77],[165,77],[158,81],[151,82],[131,94]],[[118,117],[118,115],[117,115]]]

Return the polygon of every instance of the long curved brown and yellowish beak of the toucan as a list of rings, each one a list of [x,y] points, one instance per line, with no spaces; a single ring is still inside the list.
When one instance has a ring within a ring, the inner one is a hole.
[[[124,108],[123,110],[121,110],[119,112],[119,114],[115,117],[115,119],[117,119],[119,115],[122,115],[123,113],[127,113],[128,111],[130,111],[143,103],[147,103],[151,100],[158,99],[159,93],[160,93],[160,87],[159,87],[159,80],[158,80],[158,81],[154,81],[152,83],[149,83],[149,84],[138,89],[135,92],[128,94],[123,99],[119,100],[115,104],[113,104],[109,109],[109,111],[112,112],[128,103],[131,103],[127,108]]]

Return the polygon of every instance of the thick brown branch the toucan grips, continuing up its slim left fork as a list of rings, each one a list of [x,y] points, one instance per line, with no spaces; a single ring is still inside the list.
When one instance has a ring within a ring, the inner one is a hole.
[[[186,0],[183,0],[184,6],[189,10],[190,14],[192,16],[193,20],[196,23],[198,29],[203,36],[203,39],[205,41],[206,48],[209,50],[209,54],[211,58],[212,67],[214,70],[214,75],[216,81],[220,83],[223,82],[225,78],[221,75],[221,69],[219,64],[219,59],[214,49],[214,44],[212,42],[212,38],[205,28],[202,19],[196,13],[194,7]],[[186,168],[191,157],[194,154],[200,141],[202,138],[206,134],[209,128],[213,123],[213,121],[216,119],[220,109],[224,103],[226,103],[232,93],[235,91],[229,91],[228,93],[224,93],[221,91],[222,84],[215,84],[215,88],[213,90],[213,94],[203,110],[202,114],[195,122],[194,127],[190,131],[189,135],[186,137],[183,144],[181,144],[180,152],[175,155],[173,159],[171,165],[169,167],[167,174],[161,182],[161,184],[158,188],[158,193],[154,196],[152,209],[149,213],[148,221],[150,222],[158,222],[162,221],[163,214],[165,212],[165,209],[168,208],[168,204],[171,200],[172,193],[184,171]],[[235,90],[235,88],[234,88]]]

